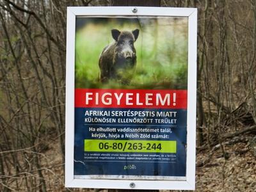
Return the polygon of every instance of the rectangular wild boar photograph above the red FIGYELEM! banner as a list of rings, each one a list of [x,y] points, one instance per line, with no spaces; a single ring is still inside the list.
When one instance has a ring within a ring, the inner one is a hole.
[[[77,17],[76,88],[186,89],[188,19]]]

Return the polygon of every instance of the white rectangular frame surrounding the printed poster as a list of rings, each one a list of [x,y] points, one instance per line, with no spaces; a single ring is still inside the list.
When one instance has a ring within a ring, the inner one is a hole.
[[[68,7],[66,68],[65,186],[67,188],[108,189],[195,189],[196,147],[196,8]],[[168,16],[188,17],[188,116],[186,180],[74,179],[74,86],[77,16]]]

